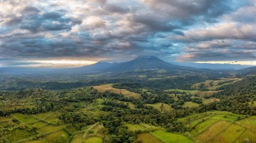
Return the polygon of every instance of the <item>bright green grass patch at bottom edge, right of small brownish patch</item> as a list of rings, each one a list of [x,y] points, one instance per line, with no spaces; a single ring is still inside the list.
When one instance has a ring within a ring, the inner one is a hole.
[[[190,143],[190,142],[194,142],[193,140],[191,140],[190,138],[181,135],[181,134],[176,134],[176,133],[171,133],[171,132],[166,132],[164,130],[157,130],[152,132],[152,134],[157,137],[158,139],[160,139],[161,141],[165,142],[165,143],[178,143],[178,142],[182,142],[182,143]]]

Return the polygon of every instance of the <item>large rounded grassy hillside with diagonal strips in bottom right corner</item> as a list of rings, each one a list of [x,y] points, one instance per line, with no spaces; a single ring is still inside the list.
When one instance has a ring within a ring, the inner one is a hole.
[[[238,120],[239,117],[241,120]],[[178,121],[183,122],[190,129],[191,137],[199,142],[242,142],[245,138],[253,142],[256,140],[254,118],[227,111],[208,111]]]

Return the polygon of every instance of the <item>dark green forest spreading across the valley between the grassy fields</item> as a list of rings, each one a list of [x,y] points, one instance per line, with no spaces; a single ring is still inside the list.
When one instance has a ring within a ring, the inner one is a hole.
[[[178,80],[177,80],[178,81]],[[13,112],[35,114],[50,110],[61,110],[62,114],[58,119],[65,123],[79,125],[80,128],[101,122],[109,131],[104,137],[105,142],[135,142],[136,136],[127,130],[123,123],[147,123],[166,128],[167,131],[185,132],[187,128],[178,118],[186,117],[191,113],[205,112],[209,110],[226,110],[238,114],[256,115],[256,109],[249,103],[255,100],[255,76],[247,77],[236,83],[225,85],[221,92],[212,96],[220,98],[220,102],[213,102],[203,105],[200,98],[191,98],[185,93],[174,93],[178,100],[164,92],[162,89],[152,89],[144,92],[140,86],[133,87],[132,84],[117,84],[119,88],[126,88],[141,93],[141,98],[126,98],[122,94],[110,92],[99,93],[91,87],[72,90],[49,91],[49,90],[22,90],[15,92],[1,92],[1,99],[9,101],[27,101],[35,106],[30,108],[18,108],[6,110],[0,109],[0,116],[6,116]],[[143,85],[144,86],[144,85]],[[160,86],[160,85],[159,85]],[[177,95],[182,94],[182,95]],[[82,112],[83,105],[93,104],[96,99],[103,99],[100,104],[98,115],[89,115]],[[129,101],[135,104],[136,108],[131,109],[127,104],[120,101]],[[199,103],[199,107],[182,108],[184,102],[192,101]],[[159,111],[152,106],[145,106],[145,103],[162,102],[172,103],[175,110]],[[21,127],[22,128],[22,127]]]

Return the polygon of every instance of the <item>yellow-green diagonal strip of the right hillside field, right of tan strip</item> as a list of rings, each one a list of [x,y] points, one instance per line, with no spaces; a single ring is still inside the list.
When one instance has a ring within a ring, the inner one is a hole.
[[[244,128],[237,125],[231,124],[224,131],[220,132],[220,134],[216,135],[214,138],[210,139],[208,142],[219,142],[219,143],[231,143],[236,140],[236,138],[244,131]]]

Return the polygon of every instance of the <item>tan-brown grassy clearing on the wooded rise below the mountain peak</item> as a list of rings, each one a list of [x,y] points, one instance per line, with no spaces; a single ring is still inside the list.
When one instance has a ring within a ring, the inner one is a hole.
[[[96,89],[98,92],[113,92],[117,94],[123,94],[124,97],[134,97],[134,98],[140,98],[140,94],[127,91],[125,89],[116,89],[112,87],[112,84],[102,84],[102,85],[96,85],[93,86],[94,89]]]

